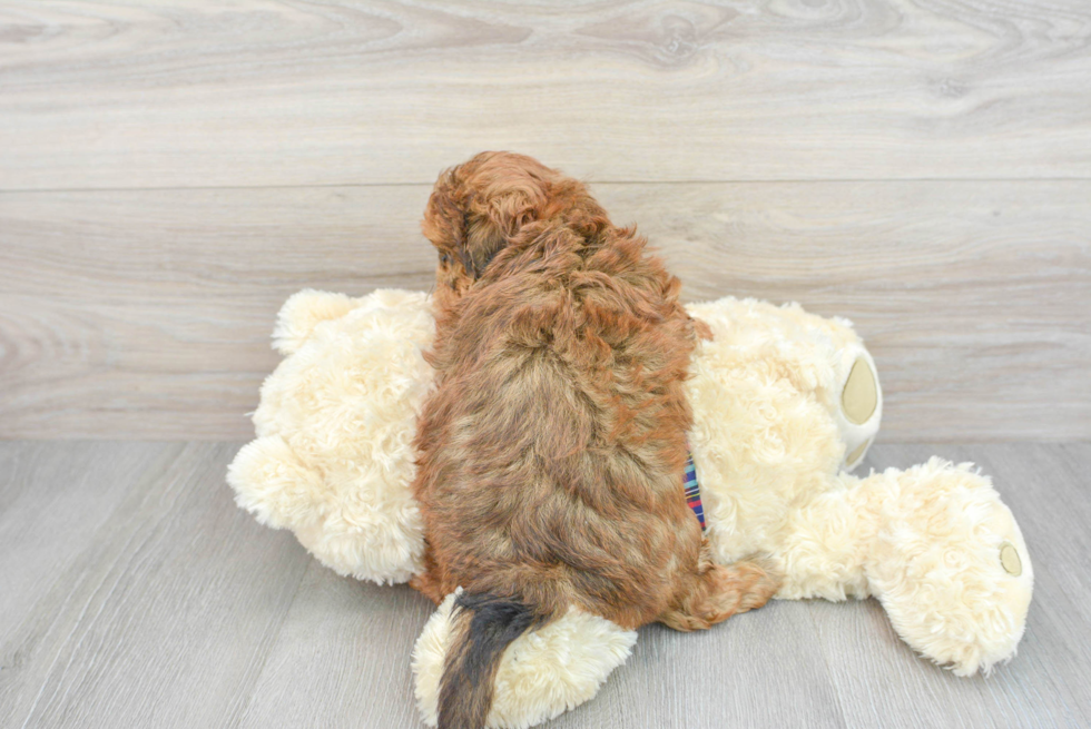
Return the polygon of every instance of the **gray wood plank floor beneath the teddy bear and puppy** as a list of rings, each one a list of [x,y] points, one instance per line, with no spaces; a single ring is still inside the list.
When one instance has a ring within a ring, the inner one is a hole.
[[[237,443],[0,443],[0,726],[419,727],[431,603],[340,578],[236,509]],[[1015,660],[960,679],[874,601],[777,602],[704,633],[641,631],[551,727],[1091,723],[1091,444],[877,445],[993,474],[1034,559]]]

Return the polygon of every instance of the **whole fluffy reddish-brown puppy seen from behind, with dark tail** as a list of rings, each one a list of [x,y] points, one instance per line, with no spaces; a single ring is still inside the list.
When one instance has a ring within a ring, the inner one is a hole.
[[[444,173],[423,229],[440,263],[414,587],[464,590],[440,727],[483,727],[503,650],[569,605],[694,630],[764,604],[778,580],[714,565],[686,505],[697,335],[646,240],[579,181],[505,152]]]

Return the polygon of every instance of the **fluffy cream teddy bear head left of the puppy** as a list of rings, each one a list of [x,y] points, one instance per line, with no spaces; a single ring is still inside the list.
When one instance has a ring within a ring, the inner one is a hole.
[[[239,506],[338,574],[407,582],[424,563],[410,491],[416,415],[432,386],[424,294],[299,292],[274,332],[286,355],[262,386],[257,440],[228,470]]]

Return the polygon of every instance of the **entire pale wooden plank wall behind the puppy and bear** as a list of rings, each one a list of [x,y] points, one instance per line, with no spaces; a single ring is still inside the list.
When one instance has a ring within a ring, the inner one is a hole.
[[[0,0],[0,437],[246,437],[283,299],[427,287],[505,148],[856,322],[885,440],[1088,440],[1089,80],[1084,0]]]

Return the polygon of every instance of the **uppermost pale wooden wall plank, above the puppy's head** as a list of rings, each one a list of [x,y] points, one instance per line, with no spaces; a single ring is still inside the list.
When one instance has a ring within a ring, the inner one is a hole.
[[[558,7],[561,6],[561,7]],[[1091,176],[1084,0],[0,6],[0,189]]]

